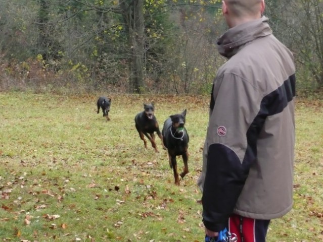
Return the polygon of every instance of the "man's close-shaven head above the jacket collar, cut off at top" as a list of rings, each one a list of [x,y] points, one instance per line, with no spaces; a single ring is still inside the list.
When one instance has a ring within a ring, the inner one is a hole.
[[[261,18],[264,10],[264,0],[222,1],[222,13],[229,28]]]

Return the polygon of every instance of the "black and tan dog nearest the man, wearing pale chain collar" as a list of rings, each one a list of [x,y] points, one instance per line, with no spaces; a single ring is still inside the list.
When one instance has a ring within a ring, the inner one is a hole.
[[[173,168],[175,184],[179,185],[179,177],[177,172],[176,156],[181,155],[184,162],[183,172],[180,173],[180,177],[184,177],[189,173],[188,166],[188,147],[189,147],[189,134],[185,129],[185,117],[186,109],[182,113],[170,115],[165,120],[162,135],[164,144],[168,151],[169,166]]]

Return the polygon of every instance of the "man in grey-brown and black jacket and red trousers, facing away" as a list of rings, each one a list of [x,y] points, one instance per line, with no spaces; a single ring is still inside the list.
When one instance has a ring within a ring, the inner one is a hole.
[[[207,241],[227,228],[239,242],[263,242],[270,219],[292,208],[294,58],[264,8],[264,0],[222,1],[229,30],[217,44],[228,61],[213,83],[198,179]]]

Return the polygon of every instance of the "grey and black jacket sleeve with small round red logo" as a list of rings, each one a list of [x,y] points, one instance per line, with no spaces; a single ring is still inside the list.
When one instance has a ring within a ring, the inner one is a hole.
[[[256,159],[256,151],[248,145],[247,133],[258,131],[259,127],[253,127],[253,119],[261,96],[247,80],[223,74],[214,84],[212,99],[206,139],[203,222],[208,229],[220,231],[226,227]],[[253,143],[256,138],[253,136]]]

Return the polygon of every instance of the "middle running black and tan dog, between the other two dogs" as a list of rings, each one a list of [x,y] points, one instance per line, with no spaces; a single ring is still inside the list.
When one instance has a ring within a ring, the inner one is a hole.
[[[147,149],[147,141],[145,136],[152,143],[156,152],[159,152],[155,142],[155,134],[157,133],[158,137],[162,141],[163,149],[166,149],[163,143],[163,137],[160,133],[157,119],[155,117],[155,107],[153,103],[145,104],[144,111],[137,113],[134,117],[135,128],[137,129],[140,138],[144,141],[145,149]],[[144,136],[145,135],[145,136]]]

